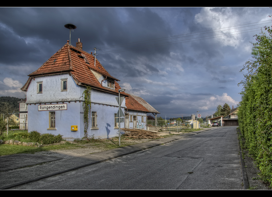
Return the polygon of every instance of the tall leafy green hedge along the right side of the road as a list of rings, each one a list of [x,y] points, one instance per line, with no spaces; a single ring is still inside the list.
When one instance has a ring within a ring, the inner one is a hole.
[[[268,29],[256,35],[253,60],[247,70],[239,104],[239,129],[246,139],[246,147],[255,158],[261,177],[272,186],[272,34]]]

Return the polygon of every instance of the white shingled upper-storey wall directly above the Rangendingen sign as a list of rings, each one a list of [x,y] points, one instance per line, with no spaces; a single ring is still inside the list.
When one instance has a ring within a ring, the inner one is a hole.
[[[67,91],[61,91],[61,79],[67,78]],[[37,82],[42,82],[42,93],[37,94]],[[84,87],[78,86],[69,74],[37,77],[28,86],[27,103],[49,103],[83,100]]]

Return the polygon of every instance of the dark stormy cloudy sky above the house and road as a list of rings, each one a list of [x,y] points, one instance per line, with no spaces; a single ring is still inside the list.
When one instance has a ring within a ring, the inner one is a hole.
[[[270,8],[0,8],[0,96],[20,88],[67,40],[67,23],[126,92],[161,114],[206,117],[236,107],[254,35],[271,26]],[[263,28],[264,29],[264,28]]]

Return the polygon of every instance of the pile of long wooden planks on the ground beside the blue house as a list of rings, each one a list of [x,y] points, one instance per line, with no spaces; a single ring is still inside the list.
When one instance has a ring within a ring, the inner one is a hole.
[[[144,139],[156,139],[156,138],[163,138],[158,136],[156,131],[149,131],[144,129],[126,129],[122,128],[120,131],[124,132],[125,137],[129,138],[144,138]]]

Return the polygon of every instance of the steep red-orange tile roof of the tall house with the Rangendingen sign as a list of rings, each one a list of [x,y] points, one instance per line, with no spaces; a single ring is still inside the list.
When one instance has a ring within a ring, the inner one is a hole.
[[[88,60],[87,62],[89,62],[89,64],[85,62],[84,58]],[[103,87],[95,78],[90,69],[101,73],[103,76],[107,76],[107,78],[114,79],[115,90]],[[63,72],[69,72],[69,74],[73,76],[77,85],[88,85],[92,88],[98,88],[114,93],[118,93],[118,90],[120,89],[119,84],[116,82],[118,79],[112,77],[97,59],[94,66],[94,56],[92,53],[89,54],[76,48],[75,46],[69,45],[69,42],[67,42],[67,44],[65,44],[60,50],[58,50],[58,52],[51,56],[51,58],[47,60],[38,70],[28,75],[30,78],[23,88],[21,88],[21,90],[27,91],[32,77]],[[121,92],[120,94],[128,96],[125,92]]]

